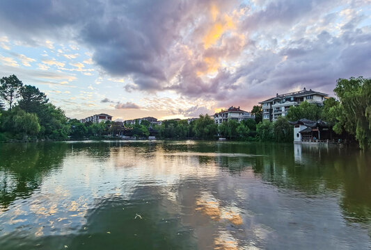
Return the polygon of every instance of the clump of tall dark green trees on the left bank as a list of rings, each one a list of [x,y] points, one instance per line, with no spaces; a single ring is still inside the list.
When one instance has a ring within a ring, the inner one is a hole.
[[[23,85],[15,75],[1,78],[0,83],[1,101],[9,105],[8,110],[0,105],[0,140],[68,138],[70,124],[63,110],[49,103],[38,88]]]

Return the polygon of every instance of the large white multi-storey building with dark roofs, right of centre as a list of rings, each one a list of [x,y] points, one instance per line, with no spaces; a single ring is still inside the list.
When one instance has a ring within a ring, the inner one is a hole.
[[[306,88],[297,92],[276,94],[276,97],[259,102],[262,105],[262,118],[275,121],[278,117],[284,117],[287,115],[287,110],[291,106],[299,106],[303,101],[308,101],[308,103],[315,103],[322,106],[324,99],[328,96],[329,94],[324,94],[311,89],[306,90]]]

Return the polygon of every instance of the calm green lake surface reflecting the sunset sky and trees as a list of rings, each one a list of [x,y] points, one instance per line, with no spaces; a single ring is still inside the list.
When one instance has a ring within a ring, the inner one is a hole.
[[[233,142],[0,144],[0,249],[370,249],[371,154]]]

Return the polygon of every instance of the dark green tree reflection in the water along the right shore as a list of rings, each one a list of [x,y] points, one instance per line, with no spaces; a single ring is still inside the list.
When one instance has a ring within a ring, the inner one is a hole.
[[[339,192],[342,213],[349,221],[370,222],[370,152],[331,145],[294,147],[290,153],[272,146],[269,157],[255,158],[255,174],[278,187],[309,195]]]

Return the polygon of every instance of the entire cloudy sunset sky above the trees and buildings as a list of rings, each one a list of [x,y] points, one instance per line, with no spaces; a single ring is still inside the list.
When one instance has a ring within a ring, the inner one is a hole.
[[[0,76],[68,117],[195,117],[371,74],[370,0],[2,0]]]

